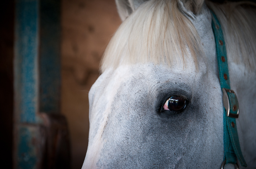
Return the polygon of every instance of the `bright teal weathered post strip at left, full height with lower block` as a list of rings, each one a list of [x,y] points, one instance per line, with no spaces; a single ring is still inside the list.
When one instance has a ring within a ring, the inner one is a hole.
[[[14,42],[14,168],[37,168],[39,1],[17,0]]]

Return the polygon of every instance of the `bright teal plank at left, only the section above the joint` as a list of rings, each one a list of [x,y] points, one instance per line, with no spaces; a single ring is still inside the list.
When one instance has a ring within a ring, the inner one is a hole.
[[[38,111],[39,1],[17,0],[14,42],[14,119],[36,123]]]

